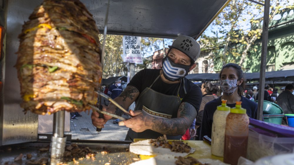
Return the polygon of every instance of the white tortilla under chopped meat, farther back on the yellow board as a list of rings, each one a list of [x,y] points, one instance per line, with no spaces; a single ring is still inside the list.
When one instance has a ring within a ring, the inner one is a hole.
[[[188,154],[195,152],[195,149],[191,148],[190,152],[172,152],[169,148],[154,147],[152,143],[149,143],[151,139],[141,140],[135,143],[130,144],[130,152],[137,155],[147,155],[147,156],[156,156],[156,155],[173,155],[174,157],[185,157]]]

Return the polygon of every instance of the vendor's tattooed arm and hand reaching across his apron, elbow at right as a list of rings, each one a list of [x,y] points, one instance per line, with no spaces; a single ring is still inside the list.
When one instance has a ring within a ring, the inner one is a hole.
[[[177,118],[172,119],[156,118],[138,112],[136,114],[136,111],[130,111],[130,113],[136,117],[123,121],[122,125],[126,125],[126,127],[131,128],[135,132],[150,129],[171,136],[185,134],[197,115],[194,106],[187,102],[181,103]]]

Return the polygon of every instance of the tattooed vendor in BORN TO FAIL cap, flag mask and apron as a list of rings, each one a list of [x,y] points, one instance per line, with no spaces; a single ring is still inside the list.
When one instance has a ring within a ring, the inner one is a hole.
[[[193,68],[200,55],[200,45],[195,39],[180,35],[166,57],[163,69],[143,69],[138,72],[126,89],[114,100],[125,109],[136,102],[133,118],[121,121],[119,125],[129,127],[125,140],[152,138],[167,135],[168,139],[179,140],[195,119],[202,100],[199,86],[185,76]],[[110,113],[121,115],[122,111],[113,104],[103,107]],[[93,125],[103,127],[110,116],[98,118],[91,115]]]

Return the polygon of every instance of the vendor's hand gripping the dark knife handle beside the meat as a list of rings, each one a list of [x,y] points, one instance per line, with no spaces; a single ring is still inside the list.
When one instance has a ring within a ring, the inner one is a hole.
[[[102,110],[104,110],[106,112],[110,112],[110,110],[109,110],[109,108],[107,106],[103,106]],[[92,124],[95,127],[98,127],[98,128],[104,128],[104,124],[108,120],[110,120],[111,118],[112,117],[111,116],[108,116],[108,115],[103,115],[103,118],[99,118],[99,113],[96,112],[96,111],[94,111],[94,110],[92,111],[92,114],[91,114]]]

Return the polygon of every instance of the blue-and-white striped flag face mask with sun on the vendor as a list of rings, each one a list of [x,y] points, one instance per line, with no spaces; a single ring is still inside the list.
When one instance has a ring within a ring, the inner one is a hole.
[[[163,76],[170,81],[178,81],[188,75],[190,66],[175,64],[166,56],[162,59]]]

